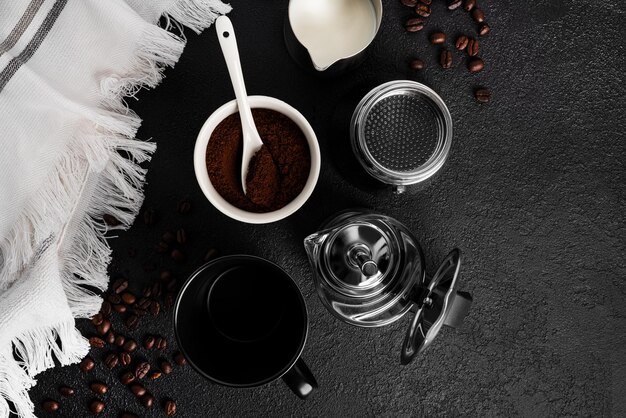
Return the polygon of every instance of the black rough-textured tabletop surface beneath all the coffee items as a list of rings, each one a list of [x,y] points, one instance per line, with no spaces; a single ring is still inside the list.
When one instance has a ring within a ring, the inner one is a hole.
[[[176,399],[184,417],[625,416],[625,3],[479,0],[492,33],[481,47],[485,70],[470,75],[456,52],[454,69],[441,70],[437,49],[426,41],[434,29],[452,39],[474,33],[464,11],[448,12],[436,0],[428,28],[407,34],[401,22],[411,11],[385,1],[367,61],[330,80],[306,74],[288,56],[282,38],[287,1],[232,3],[248,93],[290,103],[317,132],[323,156],[317,189],[296,214],[262,226],[226,218],[205,200],[193,173],[194,141],[204,120],[234,94],[213,28],[199,37],[189,33],[185,53],[162,85],[131,100],[144,119],[139,137],[158,144],[145,205],[161,220],[152,228],[139,220],[111,240],[111,274],[129,277],[139,290],[156,274],[143,271],[144,261],[170,265],[153,244],[180,226],[190,234],[188,261],[175,267],[180,280],[211,246],[277,262],[307,300],[303,357],[320,388],[301,401],[281,382],[235,390],[186,367],[149,385],[157,399]],[[408,71],[412,56],[428,68]],[[355,99],[404,78],[443,97],[455,132],[442,172],[427,187],[397,196],[363,180],[346,153],[345,129]],[[479,85],[492,90],[490,104],[474,102]],[[175,213],[183,196],[194,205],[186,217]],[[409,366],[399,364],[408,317],[380,329],[351,327],[334,319],[315,293],[302,239],[325,217],[352,206],[404,222],[424,247],[429,271],[452,247],[464,252],[461,287],[474,295],[472,311],[462,329],[444,330]],[[127,256],[129,248],[137,257]],[[79,326],[92,332],[86,321]],[[135,335],[167,335],[173,345],[169,314],[142,329]],[[144,415],[101,365],[88,377],[76,366],[47,371],[31,395],[38,404],[59,398],[59,383],[71,384],[79,395],[62,401],[63,414],[83,416],[91,398],[86,382],[96,377],[112,386],[104,397],[107,416],[121,408]],[[163,416],[158,408],[145,415]]]

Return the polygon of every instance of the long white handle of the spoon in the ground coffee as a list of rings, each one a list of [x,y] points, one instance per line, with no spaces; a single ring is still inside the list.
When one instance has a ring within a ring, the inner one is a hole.
[[[254,124],[252,112],[248,105],[248,93],[246,92],[246,85],[243,81],[243,72],[241,71],[237,38],[235,37],[233,24],[228,17],[220,16],[215,21],[215,30],[217,31],[217,39],[220,41],[220,47],[222,48],[226,66],[228,67],[230,81],[233,85],[233,90],[235,90],[241,123],[250,130],[253,130],[253,132],[256,132],[256,125]]]

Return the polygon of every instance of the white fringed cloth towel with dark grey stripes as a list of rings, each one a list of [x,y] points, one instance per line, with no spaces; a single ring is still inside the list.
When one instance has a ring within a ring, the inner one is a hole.
[[[79,361],[74,318],[108,284],[103,215],[128,227],[155,144],[123,97],[154,87],[220,0],[0,1],[0,417],[33,416],[34,376]],[[89,286],[86,288],[84,286]],[[53,357],[54,356],[54,357]],[[9,404],[10,402],[10,404]]]

